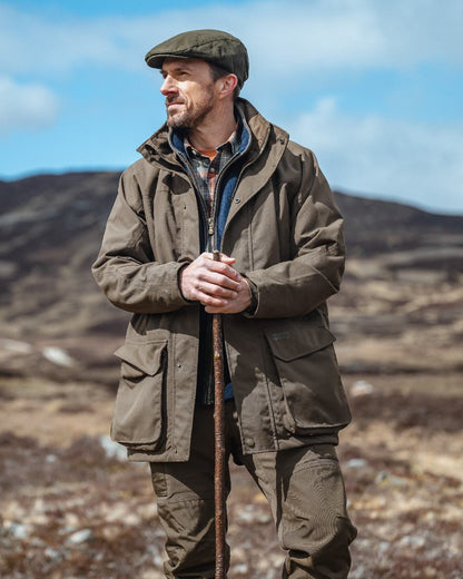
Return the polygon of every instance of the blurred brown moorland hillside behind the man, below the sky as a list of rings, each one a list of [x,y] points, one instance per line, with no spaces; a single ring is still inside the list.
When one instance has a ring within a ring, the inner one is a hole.
[[[118,177],[69,173],[0,181],[3,374],[114,380],[110,352],[124,337],[127,314],[106,302],[90,265]],[[460,370],[463,217],[335,195],[348,252],[343,290],[331,300],[344,370]]]

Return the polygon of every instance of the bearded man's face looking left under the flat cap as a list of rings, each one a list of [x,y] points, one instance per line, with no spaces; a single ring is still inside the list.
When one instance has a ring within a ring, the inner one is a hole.
[[[161,75],[169,127],[198,127],[216,105],[209,65],[193,58],[166,58]]]

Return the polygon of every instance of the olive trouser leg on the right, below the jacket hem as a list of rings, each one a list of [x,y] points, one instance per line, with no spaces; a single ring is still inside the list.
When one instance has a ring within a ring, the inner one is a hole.
[[[266,494],[287,551],[284,579],[345,579],[356,536],[336,452],[319,444],[243,458]]]

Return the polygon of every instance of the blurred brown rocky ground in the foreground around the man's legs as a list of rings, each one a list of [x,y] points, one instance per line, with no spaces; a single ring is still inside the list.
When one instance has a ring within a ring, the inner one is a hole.
[[[352,579],[463,578],[462,377],[346,377]],[[112,402],[93,384],[1,380],[2,578],[162,577],[148,470],[110,443]],[[238,468],[233,482],[228,577],[276,579],[283,556],[267,504]]]

